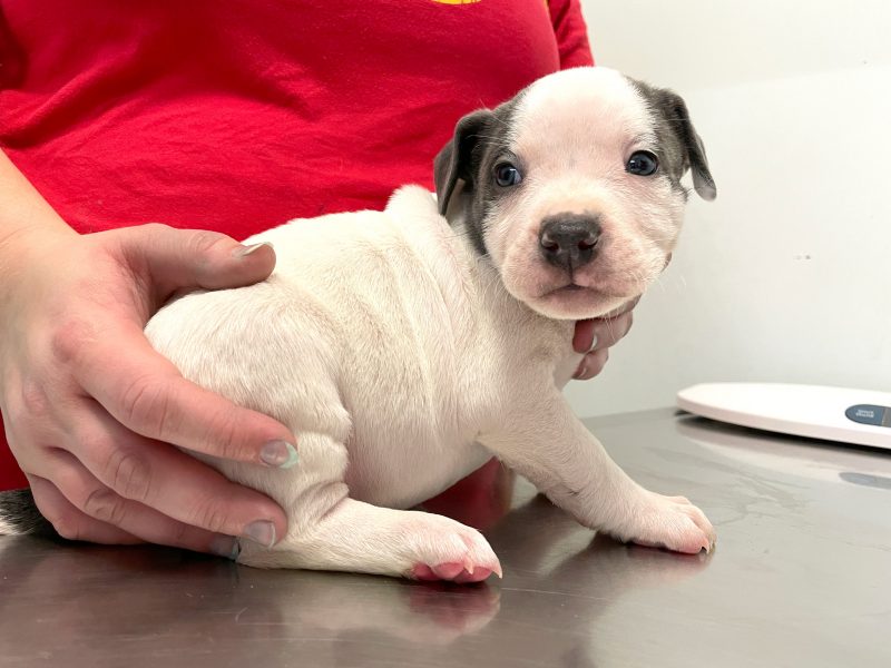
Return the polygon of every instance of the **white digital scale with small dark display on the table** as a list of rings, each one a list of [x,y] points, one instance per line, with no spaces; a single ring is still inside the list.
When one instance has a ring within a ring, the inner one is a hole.
[[[678,407],[752,429],[891,450],[891,393],[783,383],[704,383]]]

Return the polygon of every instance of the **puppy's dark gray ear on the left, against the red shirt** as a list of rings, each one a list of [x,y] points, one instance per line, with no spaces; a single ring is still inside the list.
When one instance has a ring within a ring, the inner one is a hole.
[[[469,195],[476,187],[476,164],[479,160],[476,148],[492,118],[492,112],[487,109],[464,116],[458,121],[452,140],[439,151],[433,160],[433,179],[437,186],[440,215],[447,215],[459,179],[464,181],[461,199],[470,200]]]

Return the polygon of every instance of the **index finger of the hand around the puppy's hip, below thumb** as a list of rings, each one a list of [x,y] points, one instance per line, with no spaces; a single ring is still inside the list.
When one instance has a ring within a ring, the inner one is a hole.
[[[107,341],[126,354],[111,356]],[[185,380],[134,323],[69,328],[57,351],[86,393],[138,434],[267,466],[297,461],[296,439],[285,425]]]

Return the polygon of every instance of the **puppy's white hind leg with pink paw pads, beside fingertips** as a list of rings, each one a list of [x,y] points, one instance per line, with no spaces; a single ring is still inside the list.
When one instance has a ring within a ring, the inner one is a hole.
[[[288,532],[272,549],[243,541],[238,561],[263,568],[342,570],[419,580],[477,582],[501,566],[476,529],[418,511],[378,508],[349,498],[346,448],[323,434],[302,434],[301,464],[251,479],[288,512]]]

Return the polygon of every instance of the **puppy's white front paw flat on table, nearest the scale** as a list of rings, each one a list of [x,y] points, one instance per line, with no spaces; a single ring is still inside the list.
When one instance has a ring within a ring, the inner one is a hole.
[[[663,497],[646,492],[647,499],[630,521],[623,540],[648,548],[666,548],[675,552],[698,554],[715,547],[715,529],[702,510],[685,497]]]

